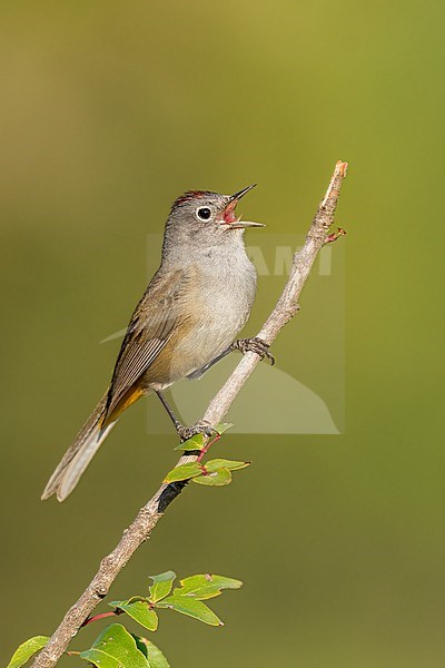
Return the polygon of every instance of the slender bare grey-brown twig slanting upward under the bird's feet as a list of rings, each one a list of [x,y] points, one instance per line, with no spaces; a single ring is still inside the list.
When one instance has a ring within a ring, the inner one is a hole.
[[[328,230],[334,222],[334,214],[342,184],[346,176],[346,169],[347,163],[337,163],[326,195],[310,225],[305,245],[294,256],[290,275],[283,294],[261,331],[257,334],[259,338],[268,344],[275,341],[278,333],[299,310],[298,298],[317,254],[326,243],[333,240],[332,237],[328,238]],[[211,400],[204,420],[214,426],[222,420],[259,361],[260,357],[253,352],[243,356],[234,373]],[[195,462],[198,458],[199,453],[184,454],[177,465],[186,462]],[[98,572],[86,591],[68,610],[59,628],[48,641],[48,645],[36,657],[32,668],[52,668],[57,665],[70,640],[85,625],[96,606],[107,596],[119,572],[139,546],[151,536],[151,531],[165,513],[167,507],[176,499],[186,484],[187,482],[161,484],[150,501],[141,508],[135,521],[123,531],[119,544],[108,557],[102,559]]]

